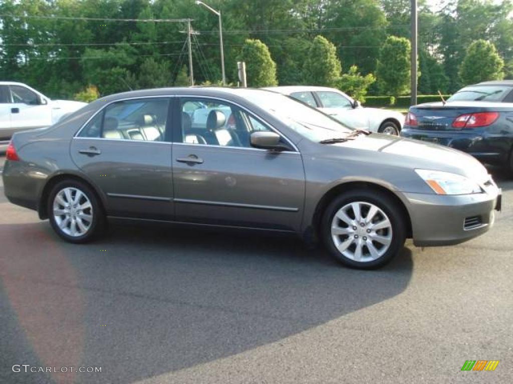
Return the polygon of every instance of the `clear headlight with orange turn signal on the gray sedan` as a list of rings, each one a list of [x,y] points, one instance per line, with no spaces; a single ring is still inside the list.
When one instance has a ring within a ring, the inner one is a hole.
[[[465,176],[429,169],[415,169],[415,172],[438,195],[469,195],[483,192],[478,183]]]

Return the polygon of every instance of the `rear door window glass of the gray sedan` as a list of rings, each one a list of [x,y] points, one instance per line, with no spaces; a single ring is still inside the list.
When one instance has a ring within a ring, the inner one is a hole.
[[[164,141],[168,109],[167,98],[117,101],[89,121],[78,136]]]

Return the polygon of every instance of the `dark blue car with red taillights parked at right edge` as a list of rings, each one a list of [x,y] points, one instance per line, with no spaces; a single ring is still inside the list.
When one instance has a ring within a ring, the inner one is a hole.
[[[401,136],[446,145],[513,173],[513,80],[468,86],[411,106]]]

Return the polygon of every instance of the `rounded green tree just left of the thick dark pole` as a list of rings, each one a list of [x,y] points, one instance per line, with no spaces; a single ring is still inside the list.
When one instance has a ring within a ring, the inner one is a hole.
[[[404,37],[388,36],[381,47],[376,77],[380,92],[400,96],[409,91],[411,47]]]

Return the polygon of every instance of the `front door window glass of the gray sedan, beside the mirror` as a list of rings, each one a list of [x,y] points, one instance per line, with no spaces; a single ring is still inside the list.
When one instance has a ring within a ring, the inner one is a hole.
[[[238,106],[213,99],[181,101],[182,142],[199,145],[251,147],[250,135],[270,128]]]

